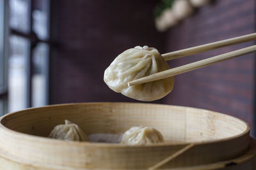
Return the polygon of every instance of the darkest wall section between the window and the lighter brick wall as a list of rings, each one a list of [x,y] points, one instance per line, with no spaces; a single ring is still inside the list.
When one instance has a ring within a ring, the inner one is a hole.
[[[115,57],[137,45],[164,49],[152,10],[156,0],[51,1],[50,103],[134,101],[110,90],[104,70]],[[160,103],[160,101],[156,101]]]

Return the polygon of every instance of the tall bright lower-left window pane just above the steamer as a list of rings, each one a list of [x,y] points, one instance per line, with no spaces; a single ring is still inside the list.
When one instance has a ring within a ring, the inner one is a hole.
[[[8,69],[8,110],[17,111],[29,107],[27,103],[29,40],[10,35]]]

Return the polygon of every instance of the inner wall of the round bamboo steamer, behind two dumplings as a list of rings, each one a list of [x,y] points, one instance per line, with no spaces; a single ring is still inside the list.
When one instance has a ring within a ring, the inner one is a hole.
[[[134,107],[135,106],[135,107]],[[221,113],[163,104],[60,104],[17,111],[2,118],[13,131],[47,137],[54,126],[70,120],[90,134],[122,134],[132,126],[148,125],[165,141],[202,142],[239,136],[248,124]]]

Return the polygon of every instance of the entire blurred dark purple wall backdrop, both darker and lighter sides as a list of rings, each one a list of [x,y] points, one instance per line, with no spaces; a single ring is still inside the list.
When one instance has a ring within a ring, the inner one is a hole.
[[[168,31],[157,32],[152,10],[159,1],[51,1],[50,103],[138,102],[113,92],[103,81],[106,67],[134,46],[161,53],[255,32],[255,0],[216,0]],[[170,66],[230,52],[255,42],[170,61]],[[255,54],[176,76],[173,92],[154,103],[205,108],[255,119]],[[253,132],[252,132],[253,133]]]

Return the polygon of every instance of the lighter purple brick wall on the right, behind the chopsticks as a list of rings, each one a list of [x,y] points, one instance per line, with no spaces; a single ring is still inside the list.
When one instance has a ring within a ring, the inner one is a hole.
[[[167,32],[166,52],[255,32],[255,3],[255,0],[218,0],[200,8]],[[169,63],[171,67],[180,66],[254,44],[252,41]],[[164,102],[234,115],[246,120],[253,129],[254,80],[255,53],[176,76],[173,92]]]

